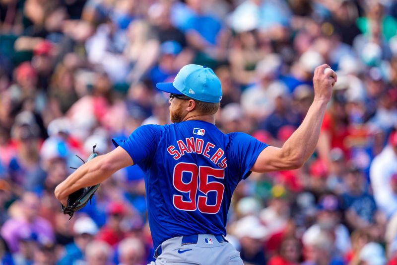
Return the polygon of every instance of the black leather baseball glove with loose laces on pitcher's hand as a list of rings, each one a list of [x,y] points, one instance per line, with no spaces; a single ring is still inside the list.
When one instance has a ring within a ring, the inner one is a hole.
[[[96,144],[92,147],[93,152],[88,157],[87,162],[98,156],[98,154],[95,153],[95,147]],[[80,158],[79,156],[77,157],[81,159],[83,163],[85,163],[82,158]],[[72,169],[76,169],[76,168],[72,168]],[[68,214],[70,216],[69,220],[73,217],[74,212],[83,208],[88,203],[88,201],[91,202],[91,198],[92,196],[94,196],[95,191],[98,189],[99,185],[100,183],[94,186],[80,188],[79,190],[74,191],[68,196],[67,206],[61,204],[62,211],[64,212],[64,214]]]

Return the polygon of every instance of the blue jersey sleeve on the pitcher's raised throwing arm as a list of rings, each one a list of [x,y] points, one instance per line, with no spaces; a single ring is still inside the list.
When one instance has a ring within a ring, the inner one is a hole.
[[[235,170],[242,179],[250,176],[250,170],[257,161],[259,154],[268,146],[246,133],[231,133],[229,155]]]

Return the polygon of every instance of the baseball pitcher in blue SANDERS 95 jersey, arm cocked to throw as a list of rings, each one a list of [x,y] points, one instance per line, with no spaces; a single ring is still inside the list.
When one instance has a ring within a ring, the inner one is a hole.
[[[113,139],[116,149],[78,168],[57,186],[56,197],[66,205],[70,193],[137,164],[146,173],[156,265],[243,264],[224,238],[232,193],[251,172],[300,168],[311,156],[336,82],[328,67],[316,69],[314,101],[301,126],[277,148],[244,133],[223,134],[215,126],[219,79],[205,66],[184,66],[173,83],[156,85],[170,93],[173,124],[144,125],[128,139]]]

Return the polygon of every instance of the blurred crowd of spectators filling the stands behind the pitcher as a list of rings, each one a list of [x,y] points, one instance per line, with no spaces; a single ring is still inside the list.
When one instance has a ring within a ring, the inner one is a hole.
[[[217,126],[281,147],[337,72],[302,169],[237,186],[227,239],[246,265],[397,264],[396,0],[0,0],[0,264],[153,261],[143,173],[61,212],[54,188],[97,144],[169,123],[190,63],[222,83]]]

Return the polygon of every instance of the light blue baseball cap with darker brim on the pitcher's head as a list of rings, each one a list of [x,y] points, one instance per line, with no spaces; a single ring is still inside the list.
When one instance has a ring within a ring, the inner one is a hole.
[[[212,69],[201,65],[185,65],[173,83],[157,83],[156,88],[209,103],[218,103],[222,99],[219,78]]]

